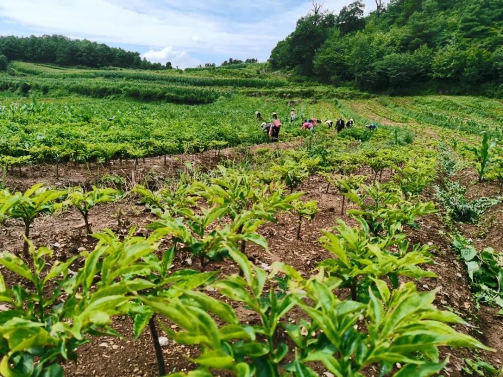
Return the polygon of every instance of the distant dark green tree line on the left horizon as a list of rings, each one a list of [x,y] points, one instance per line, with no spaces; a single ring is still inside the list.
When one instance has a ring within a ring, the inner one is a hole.
[[[59,65],[83,65],[102,68],[107,66],[137,69],[170,69],[172,65],[152,63],[141,58],[139,52],[110,47],[87,39],[70,39],[61,35],[42,37],[0,37],[0,70],[10,60]]]

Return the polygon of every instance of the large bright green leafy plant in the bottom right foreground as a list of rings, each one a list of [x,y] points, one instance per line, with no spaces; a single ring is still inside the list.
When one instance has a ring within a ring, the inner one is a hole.
[[[366,305],[341,301],[329,286],[316,280],[312,288],[300,285],[306,298],[315,304],[298,302],[310,318],[310,327],[309,333],[303,336],[299,326],[290,328],[299,352],[287,366],[288,370],[294,375],[315,376],[304,363],[321,361],[334,375],[362,377],[368,365],[378,364],[380,374],[387,375],[398,362],[401,368],[393,377],[430,376],[448,362],[448,359],[439,359],[439,346],[488,349],[447,325],[464,321],[433,305],[435,291],[417,292],[414,284],[408,282],[390,292],[383,280],[374,282],[377,292],[369,289]],[[311,337],[312,333],[316,336]],[[309,347],[306,349],[304,344]],[[298,373],[299,369],[304,374]]]

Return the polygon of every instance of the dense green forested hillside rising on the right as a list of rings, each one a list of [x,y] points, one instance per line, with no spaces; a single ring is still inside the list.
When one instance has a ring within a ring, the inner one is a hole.
[[[338,15],[315,6],[273,49],[273,68],[368,90],[419,84],[500,95],[503,1],[391,0],[363,15],[361,1]]]

